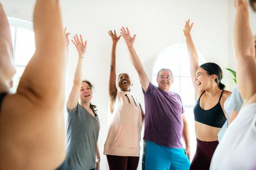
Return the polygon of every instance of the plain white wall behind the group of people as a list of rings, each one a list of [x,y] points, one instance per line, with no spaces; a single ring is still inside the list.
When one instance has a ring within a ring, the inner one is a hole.
[[[108,78],[110,68],[110,29],[119,33],[121,26],[137,34],[135,48],[149,77],[157,55],[166,46],[185,42],[182,29],[190,18],[195,22],[193,38],[196,47],[207,61],[218,63],[224,71],[223,82],[229,88],[231,77],[225,67],[235,68],[232,57],[231,29],[233,27],[233,1],[223,0],[62,0],[62,17],[71,34],[80,33],[88,40],[84,59],[84,78],[95,85],[93,101],[98,106],[101,123],[99,146],[101,153],[107,133]],[[32,21],[35,0],[2,0],[9,17]],[[253,26],[254,28],[256,25]],[[77,61],[77,53],[70,44],[68,89],[70,91]],[[117,46],[117,74],[128,72],[134,82],[132,92],[144,101],[141,87],[125,47],[123,39]],[[231,85],[231,88],[233,86]],[[193,90],[193,89],[191,89]],[[232,90],[232,89],[231,89]],[[194,132],[190,132],[194,133]],[[101,169],[106,169],[105,156],[101,156]],[[139,165],[139,169],[140,169]]]

